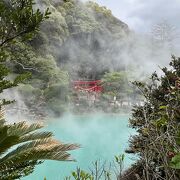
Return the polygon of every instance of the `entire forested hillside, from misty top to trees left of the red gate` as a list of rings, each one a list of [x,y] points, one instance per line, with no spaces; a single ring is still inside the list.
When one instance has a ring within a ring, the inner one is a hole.
[[[72,80],[100,79],[105,72],[125,68],[119,57],[130,31],[94,2],[38,0],[35,8],[49,8],[50,18],[34,39],[12,45],[9,66],[15,74],[31,73],[18,87],[31,111],[59,114],[70,99]]]

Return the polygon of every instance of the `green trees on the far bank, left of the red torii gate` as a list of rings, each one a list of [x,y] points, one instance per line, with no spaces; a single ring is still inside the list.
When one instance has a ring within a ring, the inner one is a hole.
[[[16,46],[11,46],[11,59],[9,60],[9,68],[13,70],[14,75],[16,74],[31,74],[28,80],[23,81],[26,85],[21,85],[18,88],[23,101],[30,109],[33,110],[37,115],[45,109],[57,111],[58,106],[63,106],[67,101],[66,96],[59,96],[60,92],[53,93],[53,88],[57,86],[66,87],[66,94],[68,93],[68,74],[62,71],[55,62],[55,59],[51,55],[45,57],[40,56],[33,48],[27,43],[16,43]],[[21,79],[24,75],[21,75]],[[29,88],[29,89],[28,89]],[[52,90],[53,96],[45,97],[44,94],[47,92],[50,94]],[[27,98],[28,97],[28,98]],[[38,98],[42,97],[42,98]],[[43,101],[42,101],[43,99]],[[53,99],[56,103],[53,104]],[[51,103],[50,103],[51,102]],[[47,103],[47,106],[45,105]],[[39,106],[39,104],[41,104]],[[57,107],[56,107],[57,106]],[[59,108],[59,113],[62,113],[65,108]],[[38,113],[39,111],[39,113]],[[42,114],[42,113],[40,113]]]

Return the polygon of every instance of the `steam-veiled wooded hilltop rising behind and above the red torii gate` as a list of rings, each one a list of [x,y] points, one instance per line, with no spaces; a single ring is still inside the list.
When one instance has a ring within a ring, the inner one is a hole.
[[[115,68],[119,57],[119,40],[127,36],[125,23],[111,11],[94,2],[39,1],[52,12],[43,23],[39,36],[31,44],[41,55],[50,54],[71,77],[96,79],[99,74]]]

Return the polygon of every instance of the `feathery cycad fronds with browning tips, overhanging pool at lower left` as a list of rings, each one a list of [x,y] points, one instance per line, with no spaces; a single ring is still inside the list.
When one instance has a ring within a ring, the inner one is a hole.
[[[52,138],[51,132],[38,132],[41,124],[19,122],[5,124],[0,115],[0,177],[15,179],[32,173],[39,160],[72,161],[67,152],[78,148],[76,144],[63,144]],[[12,149],[11,149],[12,148]]]

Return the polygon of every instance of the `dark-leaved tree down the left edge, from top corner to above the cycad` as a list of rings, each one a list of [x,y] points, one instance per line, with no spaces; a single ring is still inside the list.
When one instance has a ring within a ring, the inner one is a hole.
[[[33,9],[34,0],[2,0],[0,2],[0,93],[17,86],[25,76],[17,76],[14,81],[8,80],[9,69],[6,61],[9,58],[10,46],[16,41],[25,41],[33,37],[41,22],[48,18],[48,9],[44,14]],[[10,103],[5,99],[0,106]]]

